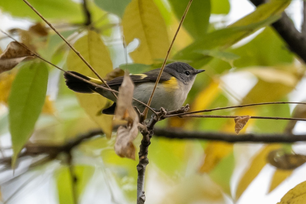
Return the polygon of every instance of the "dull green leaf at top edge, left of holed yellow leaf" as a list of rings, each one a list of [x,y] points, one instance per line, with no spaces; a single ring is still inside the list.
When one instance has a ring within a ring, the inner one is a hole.
[[[95,4],[101,9],[114,13],[121,18],[129,2],[131,2],[131,0],[95,0]]]

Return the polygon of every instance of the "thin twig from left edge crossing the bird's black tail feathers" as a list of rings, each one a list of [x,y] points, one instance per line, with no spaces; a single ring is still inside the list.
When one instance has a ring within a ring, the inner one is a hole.
[[[77,76],[77,75],[75,75],[75,74],[73,74],[73,73],[71,73],[71,72],[65,71],[64,69],[58,67],[57,65],[54,65],[54,64],[51,63],[50,61],[47,61],[47,60],[44,59],[43,57],[40,57],[39,54],[36,54],[35,52],[31,51],[26,45],[24,45],[23,43],[18,42],[16,39],[14,39],[12,36],[10,36],[9,34],[7,34],[6,32],[2,31],[1,29],[0,29],[0,32],[2,32],[4,35],[8,36],[9,38],[13,39],[15,42],[19,43],[19,44],[20,44],[21,46],[23,46],[24,48],[28,49],[30,52],[32,52],[32,53],[33,53],[36,57],[38,57],[39,59],[41,59],[41,60],[47,62],[49,65],[52,65],[52,66],[54,66],[55,68],[57,68],[57,69],[59,69],[59,70],[65,72],[65,73],[67,73],[67,74],[69,74],[70,76],[76,77],[76,78],[79,79],[79,80],[82,80],[82,81],[84,81],[84,82],[86,82],[86,83],[89,83],[89,84],[91,84],[91,85],[93,85],[93,86],[95,86],[95,87],[104,89],[104,90],[106,90],[106,91],[110,91],[110,92],[112,92],[112,93],[119,93],[118,91],[116,91],[116,90],[114,90],[114,89],[109,89],[109,88],[103,87],[103,86],[101,86],[101,85],[99,85],[99,84],[92,83],[92,82],[89,81],[89,80],[83,79],[83,78],[81,78],[80,76]],[[154,113],[155,115],[157,115],[156,111],[153,110],[150,106],[147,106],[146,103],[141,102],[141,101],[137,100],[136,98],[132,98],[132,99],[133,99],[134,101],[136,101],[136,102],[138,102],[138,103],[140,103],[140,104],[146,106],[148,109],[150,109],[150,110],[152,111],[152,113]]]

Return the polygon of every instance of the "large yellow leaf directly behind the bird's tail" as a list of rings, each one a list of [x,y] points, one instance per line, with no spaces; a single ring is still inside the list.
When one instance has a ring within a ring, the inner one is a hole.
[[[100,74],[106,76],[113,70],[110,60],[110,54],[103,44],[100,35],[94,31],[88,31],[88,34],[81,37],[74,44],[76,50],[88,61],[88,63]],[[67,66],[69,70],[80,72],[89,77],[95,77],[95,74],[84,64],[84,62],[72,51],[69,51],[67,57]],[[80,106],[95,121],[107,138],[111,137],[111,115],[101,114],[101,109],[107,105],[107,99],[97,94],[76,93]]]

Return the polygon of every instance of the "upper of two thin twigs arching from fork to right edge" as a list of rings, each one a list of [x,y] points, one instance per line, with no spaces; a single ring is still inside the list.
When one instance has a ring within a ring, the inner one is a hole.
[[[245,105],[237,105],[237,106],[227,106],[227,107],[222,107],[222,108],[213,108],[213,109],[205,109],[205,110],[197,110],[197,111],[191,111],[191,112],[186,112],[186,113],[180,113],[180,114],[171,114],[165,116],[167,117],[175,117],[175,116],[181,116],[181,115],[186,115],[186,114],[193,114],[193,113],[204,113],[204,112],[211,112],[215,110],[223,110],[223,109],[230,109],[230,108],[242,108],[242,107],[248,107],[248,106],[259,106],[259,105],[267,105],[267,104],[305,104],[303,102],[264,102],[264,103],[251,103],[251,104],[245,104]]]

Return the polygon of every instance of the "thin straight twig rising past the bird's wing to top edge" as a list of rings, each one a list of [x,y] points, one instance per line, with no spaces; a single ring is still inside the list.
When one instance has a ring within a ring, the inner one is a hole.
[[[176,32],[175,32],[175,34],[174,34],[173,39],[172,39],[172,42],[171,42],[171,44],[170,44],[170,46],[169,46],[169,49],[168,49],[168,51],[167,51],[165,60],[164,60],[164,62],[162,63],[162,67],[161,67],[161,69],[160,69],[160,71],[159,71],[159,75],[158,75],[158,77],[157,77],[157,79],[156,79],[156,82],[155,82],[155,85],[154,85],[154,87],[153,87],[151,96],[150,96],[149,101],[148,101],[148,103],[147,103],[148,106],[151,105],[151,101],[152,101],[152,98],[153,98],[155,89],[156,89],[156,87],[157,87],[157,84],[159,83],[160,77],[162,76],[162,71],[164,70],[164,67],[165,67],[165,65],[166,65],[166,62],[167,62],[167,59],[168,59],[168,57],[169,57],[171,48],[172,48],[173,43],[174,43],[174,41],[175,41],[175,39],[176,39],[177,33],[178,33],[178,31],[180,30],[181,25],[183,24],[183,21],[184,21],[184,19],[185,19],[185,17],[186,17],[186,14],[187,14],[188,9],[189,9],[189,7],[190,7],[190,5],[191,5],[191,2],[192,2],[192,0],[189,0],[188,5],[187,5],[187,7],[186,7],[186,9],[185,9],[185,12],[184,12],[184,14],[183,14],[183,16],[182,16],[182,18],[181,18],[180,24],[178,25],[177,30],[176,30]],[[144,118],[147,117],[147,113],[148,113],[148,109],[147,109],[147,107],[146,107],[146,108],[144,109],[144,112],[143,112]]]

